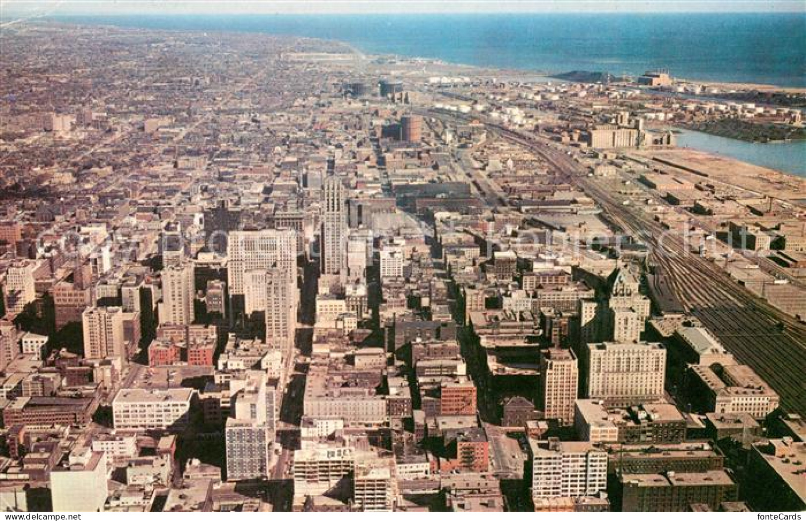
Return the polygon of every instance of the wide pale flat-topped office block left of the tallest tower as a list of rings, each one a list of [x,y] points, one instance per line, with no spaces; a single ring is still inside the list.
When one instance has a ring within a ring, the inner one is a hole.
[[[293,229],[235,231],[227,242],[230,295],[243,296],[245,274],[279,267],[297,273],[297,233]]]

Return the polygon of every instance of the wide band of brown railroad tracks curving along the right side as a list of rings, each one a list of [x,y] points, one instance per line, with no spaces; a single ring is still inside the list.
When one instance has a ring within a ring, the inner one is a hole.
[[[469,119],[433,111],[425,115],[454,122]],[[621,205],[611,193],[589,180],[579,163],[563,152],[546,147],[528,134],[492,122],[487,125],[502,138],[542,158],[556,172],[574,174],[572,182],[596,200],[614,225],[651,246],[652,262],[663,268],[667,287],[685,311],[711,330],[738,362],[752,367],[780,395],[785,411],[806,414],[804,325],[738,286],[710,261],[688,252],[681,236],[670,234],[640,210]],[[782,331],[779,325],[785,329]]]

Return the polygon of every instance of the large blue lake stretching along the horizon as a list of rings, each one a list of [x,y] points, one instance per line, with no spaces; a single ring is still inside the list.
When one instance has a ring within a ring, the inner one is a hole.
[[[65,16],[74,23],[338,39],[370,54],[542,72],[806,85],[806,14]]]

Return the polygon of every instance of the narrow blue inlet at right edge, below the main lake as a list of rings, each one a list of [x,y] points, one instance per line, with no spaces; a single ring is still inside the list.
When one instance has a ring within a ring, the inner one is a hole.
[[[677,134],[679,147],[696,148],[806,177],[806,141],[749,143],[694,130],[680,130],[680,132]]]

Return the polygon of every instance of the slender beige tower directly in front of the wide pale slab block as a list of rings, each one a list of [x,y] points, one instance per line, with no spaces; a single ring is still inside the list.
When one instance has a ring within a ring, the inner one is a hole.
[[[272,268],[267,274],[266,342],[290,347],[297,329],[297,281],[280,268]]]

